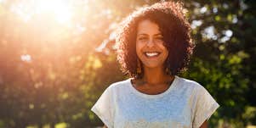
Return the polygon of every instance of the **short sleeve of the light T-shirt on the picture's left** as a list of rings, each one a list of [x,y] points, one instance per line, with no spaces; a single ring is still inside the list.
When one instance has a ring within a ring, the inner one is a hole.
[[[112,128],[114,124],[113,105],[111,88],[108,87],[91,109],[108,128]]]

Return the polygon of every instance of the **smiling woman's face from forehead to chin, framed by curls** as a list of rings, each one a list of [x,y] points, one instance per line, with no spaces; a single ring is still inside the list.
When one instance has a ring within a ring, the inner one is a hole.
[[[145,68],[162,68],[168,58],[163,46],[162,33],[157,24],[145,19],[139,22],[136,37],[136,53]]]

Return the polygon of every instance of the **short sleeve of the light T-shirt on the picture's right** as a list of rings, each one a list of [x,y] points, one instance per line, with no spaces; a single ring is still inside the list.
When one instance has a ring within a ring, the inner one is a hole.
[[[219,104],[213,99],[210,93],[200,86],[196,91],[196,107],[194,111],[193,128],[199,128],[205,120],[209,120]]]

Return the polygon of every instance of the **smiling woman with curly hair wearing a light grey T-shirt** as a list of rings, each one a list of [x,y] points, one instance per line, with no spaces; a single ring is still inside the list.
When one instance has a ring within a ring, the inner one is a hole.
[[[117,36],[117,59],[130,78],[109,86],[91,109],[108,128],[205,128],[219,108],[196,81],[177,76],[193,50],[181,3],[130,14]]]

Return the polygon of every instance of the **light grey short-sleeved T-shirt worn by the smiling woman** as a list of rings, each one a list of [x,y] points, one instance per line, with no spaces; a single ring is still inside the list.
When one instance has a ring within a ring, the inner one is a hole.
[[[111,84],[91,109],[108,128],[198,128],[219,104],[196,81],[175,75],[165,92],[139,92],[131,78]]]

